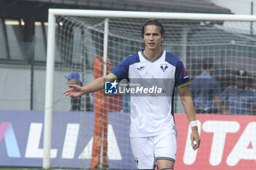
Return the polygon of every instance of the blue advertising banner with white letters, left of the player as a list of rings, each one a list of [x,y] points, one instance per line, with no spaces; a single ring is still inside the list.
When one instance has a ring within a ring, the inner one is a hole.
[[[0,111],[0,166],[42,167],[42,111]],[[53,112],[51,166],[89,168],[94,112]],[[136,169],[129,144],[129,114],[108,114],[109,169]]]

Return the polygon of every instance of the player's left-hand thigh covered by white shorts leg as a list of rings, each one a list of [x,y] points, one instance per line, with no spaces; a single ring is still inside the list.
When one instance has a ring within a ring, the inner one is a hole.
[[[130,138],[132,153],[138,169],[154,169],[154,144],[152,137]]]

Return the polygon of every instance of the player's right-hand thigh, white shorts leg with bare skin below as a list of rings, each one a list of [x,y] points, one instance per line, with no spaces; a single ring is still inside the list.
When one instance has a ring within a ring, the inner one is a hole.
[[[176,134],[160,134],[155,139],[155,157],[159,169],[173,168],[176,160]]]

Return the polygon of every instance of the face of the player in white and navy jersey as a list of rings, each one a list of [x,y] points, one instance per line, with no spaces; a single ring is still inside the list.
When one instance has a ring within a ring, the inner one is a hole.
[[[158,26],[148,25],[145,28],[143,40],[146,45],[145,50],[160,50],[164,35],[161,35]]]

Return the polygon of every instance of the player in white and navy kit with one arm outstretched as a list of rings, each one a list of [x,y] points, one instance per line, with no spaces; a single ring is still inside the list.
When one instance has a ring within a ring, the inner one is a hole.
[[[67,96],[78,97],[104,88],[104,79],[118,80],[157,78],[169,79],[171,96],[131,96],[130,141],[138,169],[173,169],[176,159],[176,128],[174,123],[174,87],[178,88],[181,102],[192,127],[191,144],[200,146],[195,110],[189,96],[189,79],[181,59],[162,50],[165,29],[158,20],[148,20],[142,28],[145,50],[125,58],[116,69],[89,85],[70,85]],[[196,142],[196,143],[194,143]]]

